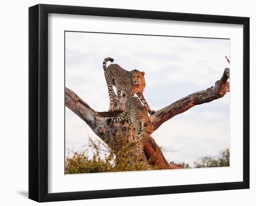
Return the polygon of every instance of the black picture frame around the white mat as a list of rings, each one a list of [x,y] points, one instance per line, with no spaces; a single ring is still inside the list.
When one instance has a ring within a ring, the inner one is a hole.
[[[243,181],[48,193],[48,13],[243,25]],[[29,199],[98,199],[249,188],[249,18],[39,4],[29,7]]]

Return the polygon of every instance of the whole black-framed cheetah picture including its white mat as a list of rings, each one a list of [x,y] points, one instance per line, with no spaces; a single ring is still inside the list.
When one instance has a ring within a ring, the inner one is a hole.
[[[29,8],[29,198],[249,188],[249,18]]]

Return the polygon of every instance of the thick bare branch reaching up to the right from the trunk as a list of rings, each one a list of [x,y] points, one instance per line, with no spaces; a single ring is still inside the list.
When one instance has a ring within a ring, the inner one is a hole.
[[[171,105],[156,111],[153,115],[150,115],[149,118],[154,125],[154,130],[161,126],[165,121],[173,118],[177,114],[187,111],[195,105],[201,105],[223,97],[227,92],[229,92],[228,79],[229,68],[226,68],[222,78],[216,81],[215,86],[189,94],[188,96],[175,101]]]

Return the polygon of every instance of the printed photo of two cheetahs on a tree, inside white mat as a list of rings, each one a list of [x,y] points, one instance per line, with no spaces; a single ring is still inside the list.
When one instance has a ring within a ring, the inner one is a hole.
[[[65,31],[65,174],[229,166],[230,40]]]

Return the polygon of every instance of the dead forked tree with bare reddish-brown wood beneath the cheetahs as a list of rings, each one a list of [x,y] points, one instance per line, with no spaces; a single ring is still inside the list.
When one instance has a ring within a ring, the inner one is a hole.
[[[229,68],[224,70],[220,80],[217,80],[215,86],[206,90],[191,93],[188,96],[175,101],[169,106],[166,106],[153,115],[150,115],[150,120],[154,125],[154,131],[159,128],[165,121],[171,119],[177,114],[187,111],[189,108],[200,105],[206,102],[222,98],[229,92]],[[116,96],[114,93],[114,109],[116,108]],[[123,102],[123,99],[121,99]],[[115,140],[116,134],[128,135],[128,122],[108,123],[107,120],[111,116],[118,115],[117,111],[113,113],[96,112],[85,101],[81,100],[72,90],[65,88],[65,105],[84,120],[94,133],[111,148],[118,148],[119,142]],[[145,143],[144,152],[147,159],[151,159],[153,164],[169,165],[168,161],[163,156],[160,147],[155,143],[155,140],[150,139]],[[172,165],[171,165],[172,166]],[[177,168],[175,165],[173,168]]]

